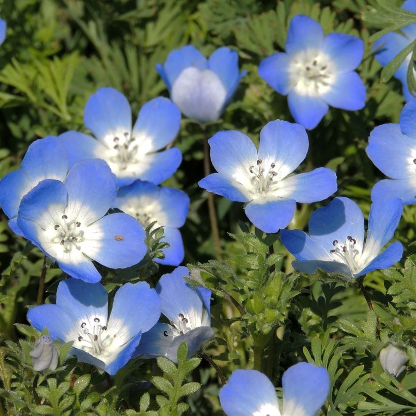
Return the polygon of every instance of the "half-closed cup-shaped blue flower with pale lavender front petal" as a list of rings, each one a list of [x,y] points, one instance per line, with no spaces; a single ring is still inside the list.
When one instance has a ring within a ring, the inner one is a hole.
[[[206,59],[191,45],[171,51],[156,70],[182,113],[201,122],[220,118],[245,74],[238,72],[237,52],[222,47]]]

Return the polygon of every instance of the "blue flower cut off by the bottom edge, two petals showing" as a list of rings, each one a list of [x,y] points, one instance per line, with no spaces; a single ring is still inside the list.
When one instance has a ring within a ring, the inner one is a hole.
[[[315,416],[329,392],[329,375],[323,367],[298,363],[282,377],[283,410],[270,380],[257,370],[235,370],[220,390],[227,416]]]

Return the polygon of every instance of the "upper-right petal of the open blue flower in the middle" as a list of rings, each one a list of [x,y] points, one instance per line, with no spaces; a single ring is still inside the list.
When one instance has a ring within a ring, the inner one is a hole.
[[[261,129],[259,159],[267,167],[275,164],[274,179],[281,181],[299,166],[308,147],[307,134],[301,125],[274,120]]]

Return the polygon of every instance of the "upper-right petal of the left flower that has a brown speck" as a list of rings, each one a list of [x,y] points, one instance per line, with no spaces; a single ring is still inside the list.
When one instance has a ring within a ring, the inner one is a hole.
[[[117,195],[115,176],[101,159],[78,162],[68,173],[65,188],[68,192],[65,214],[83,225],[103,217]]]

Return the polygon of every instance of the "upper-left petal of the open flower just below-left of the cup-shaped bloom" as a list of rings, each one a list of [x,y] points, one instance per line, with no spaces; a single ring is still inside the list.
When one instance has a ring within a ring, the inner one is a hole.
[[[131,132],[131,109],[127,98],[114,88],[99,88],[85,105],[84,124],[103,144],[113,146],[115,136]]]

